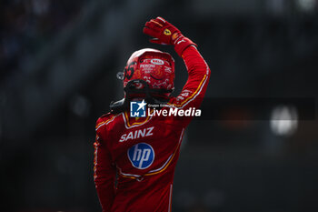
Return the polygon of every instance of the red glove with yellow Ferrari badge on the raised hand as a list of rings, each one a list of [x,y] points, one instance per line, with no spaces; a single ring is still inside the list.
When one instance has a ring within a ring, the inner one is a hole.
[[[145,23],[144,34],[154,37],[153,39],[150,39],[151,43],[174,45],[174,50],[179,56],[182,56],[186,47],[195,45],[189,38],[182,35],[179,29],[162,17],[151,19]]]

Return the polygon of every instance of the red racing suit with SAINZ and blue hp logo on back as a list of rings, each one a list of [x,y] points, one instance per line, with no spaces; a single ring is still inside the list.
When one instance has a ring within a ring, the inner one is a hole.
[[[182,55],[188,80],[168,105],[198,108],[210,78],[194,45]],[[106,114],[96,123],[94,183],[104,212],[171,211],[174,168],[190,118]]]

